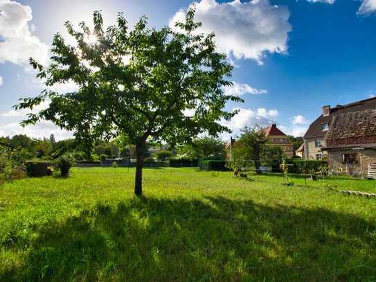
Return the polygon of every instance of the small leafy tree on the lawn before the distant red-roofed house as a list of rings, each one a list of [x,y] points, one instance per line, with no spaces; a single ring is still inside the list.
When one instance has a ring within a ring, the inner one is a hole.
[[[244,127],[238,140],[231,148],[231,162],[233,168],[247,166],[253,162],[256,173],[260,173],[260,158],[267,148],[267,136],[261,127]]]

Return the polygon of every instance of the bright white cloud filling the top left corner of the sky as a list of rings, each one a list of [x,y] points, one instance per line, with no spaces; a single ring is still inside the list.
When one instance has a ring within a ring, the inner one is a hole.
[[[33,19],[29,6],[10,0],[0,0],[0,62],[27,65],[33,57],[42,64],[48,61],[48,46],[33,35],[29,21]]]

